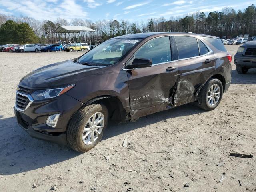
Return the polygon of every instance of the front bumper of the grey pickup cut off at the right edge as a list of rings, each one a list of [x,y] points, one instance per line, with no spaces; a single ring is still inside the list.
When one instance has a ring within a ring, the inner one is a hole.
[[[242,67],[256,68],[256,56],[244,56],[242,54],[235,54],[234,64],[240,65]]]

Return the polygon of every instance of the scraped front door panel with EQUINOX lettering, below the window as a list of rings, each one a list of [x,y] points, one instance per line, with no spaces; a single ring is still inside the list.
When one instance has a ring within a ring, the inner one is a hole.
[[[168,67],[176,67],[166,71]],[[127,71],[132,119],[170,108],[178,75],[176,62]]]

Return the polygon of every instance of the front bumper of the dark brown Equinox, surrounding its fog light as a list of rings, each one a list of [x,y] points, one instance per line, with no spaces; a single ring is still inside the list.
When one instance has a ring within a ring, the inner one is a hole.
[[[30,136],[41,140],[55,142],[58,144],[66,143],[66,129],[72,115],[81,107],[83,103],[63,94],[51,100],[34,101],[26,110],[21,111],[14,108],[14,114],[18,124]],[[55,128],[46,124],[48,116],[60,113]]]

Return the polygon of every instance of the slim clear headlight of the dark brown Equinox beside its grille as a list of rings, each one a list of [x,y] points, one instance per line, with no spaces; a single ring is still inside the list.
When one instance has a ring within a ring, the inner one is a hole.
[[[60,96],[66,93],[68,90],[72,89],[74,86],[75,84],[69,85],[64,88],[36,90],[31,94],[31,96],[35,101],[54,98],[56,96]]]

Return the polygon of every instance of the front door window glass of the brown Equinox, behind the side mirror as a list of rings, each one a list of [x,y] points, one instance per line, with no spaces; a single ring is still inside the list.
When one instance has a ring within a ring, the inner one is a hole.
[[[152,59],[152,64],[171,61],[169,37],[160,37],[146,42],[135,54],[135,58]]]

